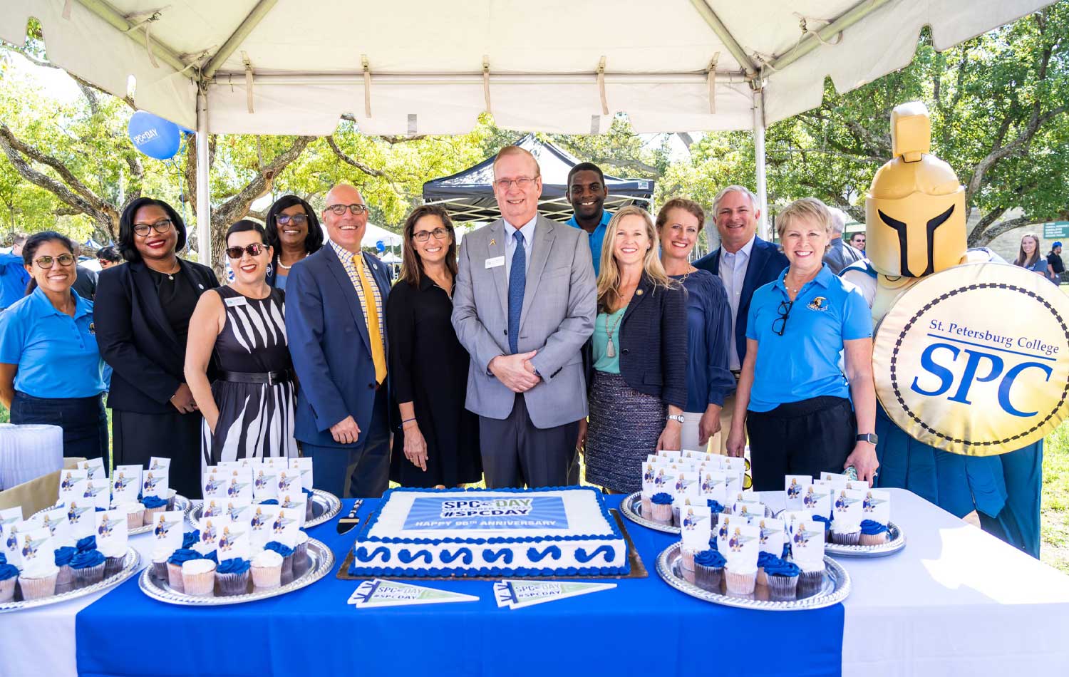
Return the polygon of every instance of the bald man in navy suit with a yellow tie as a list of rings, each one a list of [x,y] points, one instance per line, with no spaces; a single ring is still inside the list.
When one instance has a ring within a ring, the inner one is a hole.
[[[327,193],[329,243],[297,262],[285,288],[285,330],[300,387],[294,436],[314,486],[379,496],[389,486],[386,266],[360,251],[368,206],[353,186]]]

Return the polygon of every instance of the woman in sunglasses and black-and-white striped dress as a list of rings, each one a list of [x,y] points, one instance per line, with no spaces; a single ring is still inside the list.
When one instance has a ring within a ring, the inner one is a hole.
[[[227,231],[234,281],[205,293],[189,321],[186,382],[204,415],[205,465],[297,456],[293,365],[285,338],[285,292],[264,278],[274,252],[260,224]],[[208,384],[212,360],[216,381]]]

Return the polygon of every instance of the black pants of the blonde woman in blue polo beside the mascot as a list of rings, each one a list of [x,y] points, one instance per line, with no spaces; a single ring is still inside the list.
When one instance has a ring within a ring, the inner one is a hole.
[[[771,412],[746,412],[755,491],[784,488],[785,475],[842,473],[857,421],[850,400],[815,397]]]

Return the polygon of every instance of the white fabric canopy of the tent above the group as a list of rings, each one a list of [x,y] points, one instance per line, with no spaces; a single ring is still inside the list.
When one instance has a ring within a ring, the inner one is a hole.
[[[37,17],[49,59],[119,95],[136,78],[138,107],[196,126],[197,67],[253,9],[262,19],[207,87],[220,134],[335,130],[343,113],[366,134],[468,132],[486,110],[503,127],[601,133],[626,112],[638,132],[748,129],[753,95],[742,66],[699,9],[711,9],[749,60],[783,56],[861,4],[877,6],[837,45],[764,68],[765,122],[820,104],[825,76],[840,91],[909,63],[920,29],[945,49],[1049,2],[1036,0],[3,0],[0,37],[22,44]],[[699,6],[700,5],[700,6]],[[359,7],[357,12],[355,7]],[[63,16],[69,10],[69,18]],[[96,10],[96,13],[94,11]],[[99,16],[135,25],[124,34]],[[146,17],[154,17],[142,22]],[[150,43],[179,60],[150,60]],[[137,40],[131,40],[130,36]],[[827,42],[834,42],[827,41]],[[363,57],[371,74],[365,92]],[[597,71],[605,59],[604,103]],[[707,70],[717,58],[715,113]],[[249,112],[246,59],[252,72]],[[371,116],[368,116],[370,107]]]

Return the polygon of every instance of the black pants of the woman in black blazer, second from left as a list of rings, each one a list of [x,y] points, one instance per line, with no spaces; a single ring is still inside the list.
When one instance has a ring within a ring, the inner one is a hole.
[[[171,459],[167,483],[186,498],[201,497],[200,412],[142,414],[111,410],[112,462],[149,467],[149,459]]]

